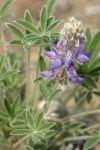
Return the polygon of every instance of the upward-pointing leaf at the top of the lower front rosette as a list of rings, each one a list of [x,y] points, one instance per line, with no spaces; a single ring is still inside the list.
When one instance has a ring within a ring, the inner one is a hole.
[[[32,117],[32,114],[30,113],[29,110],[26,110],[26,119],[27,119],[27,122],[29,123],[29,126],[30,126],[32,129],[35,129],[35,128],[36,128],[36,125],[35,125],[34,119],[33,119],[33,117]]]

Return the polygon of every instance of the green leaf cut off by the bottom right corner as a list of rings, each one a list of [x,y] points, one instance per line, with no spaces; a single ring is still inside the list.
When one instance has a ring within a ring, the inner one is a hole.
[[[84,150],[89,150],[93,147],[95,147],[98,143],[100,142],[100,137],[92,137],[91,139],[89,139],[85,145],[84,145]]]

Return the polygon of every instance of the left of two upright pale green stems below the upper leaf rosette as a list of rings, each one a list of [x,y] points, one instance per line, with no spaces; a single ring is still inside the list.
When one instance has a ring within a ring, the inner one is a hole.
[[[28,106],[29,95],[30,95],[30,50],[27,54],[27,73],[26,73],[26,106]]]

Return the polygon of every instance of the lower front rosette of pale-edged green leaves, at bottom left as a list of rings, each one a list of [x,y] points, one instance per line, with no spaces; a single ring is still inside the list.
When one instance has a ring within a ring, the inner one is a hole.
[[[55,125],[55,123],[47,121],[43,122],[43,117],[44,112],[40,112],[37,117],[33,117],[30,109],[27,109],[25,126],[19,126],[19,122],[17,120],[12,122],[11,126],[15,128],[15,130],[11,132],[11,135],[28,135],[28,137],[32,138],[34,143],[46,140],[50,129]],[[16,129],[16,127],[19,128]]]

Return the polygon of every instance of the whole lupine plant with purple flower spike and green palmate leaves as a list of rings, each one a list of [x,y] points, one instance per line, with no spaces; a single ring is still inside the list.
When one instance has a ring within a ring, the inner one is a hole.
[[[2,24],[11,17],[12,2],[7,0],[0,8]],[[0,146],[4,150],[19,149],[21,144],[25,150],[92,150],[100,142],[100,123],[89,121],[100,113],[100,107],[82,112],[84,102],[100,96],[100,31],[94,35],[74,17],[55,19],[55,4],[56,0],[49,0],[42,8],[37,26],[28,10],[23,19],[5,23],[15,40],[7,42],[0,29],[4,49],[0,56]],[[59,25],[62,28],[57,32]],[[22,52],[9,52],[11,45],[20,46]],[[31,79],[30,56],[36,47],[38,60]],[[71,110],[70,99],[75,101]]]

